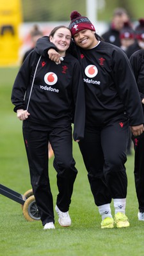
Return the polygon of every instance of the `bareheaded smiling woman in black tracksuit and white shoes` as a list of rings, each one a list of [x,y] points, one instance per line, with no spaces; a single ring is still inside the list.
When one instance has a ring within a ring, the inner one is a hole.
[[[48,142],[58,166],[55,209],[60,225],[68,227],[71,225],[68,209],[77,175],[72,156],[72,120],[74,140],[84,136],[84,86],[79,62],[67,52],[71,38],[70,29],[65,26],[54,28],[49,39],[56,45],[63,63],[56,65],[48,56],[32,51],[20,67],[12,90],[14,111],[23,121],[31,185],[44,229],[55,228]]]

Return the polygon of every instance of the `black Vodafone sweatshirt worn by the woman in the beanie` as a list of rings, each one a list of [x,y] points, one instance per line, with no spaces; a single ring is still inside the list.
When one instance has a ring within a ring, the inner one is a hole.
[[[38,39],[36,51],[47,54],[48,37]],[[86,97],[86,125],[103,125],[124,113],[129,125],[143,124],[143,109],[131,64],[122,49],[107,42],[85,50],[72,45],[82,68]]]

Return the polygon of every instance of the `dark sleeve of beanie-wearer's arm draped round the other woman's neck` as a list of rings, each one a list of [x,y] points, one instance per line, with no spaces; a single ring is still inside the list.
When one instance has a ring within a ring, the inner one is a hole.
[[[49,49],[56,50],[56,46],[49,42],[49,36],[42,36],[36,41],[35,51],[42,55],[47,56],[47,51]]]

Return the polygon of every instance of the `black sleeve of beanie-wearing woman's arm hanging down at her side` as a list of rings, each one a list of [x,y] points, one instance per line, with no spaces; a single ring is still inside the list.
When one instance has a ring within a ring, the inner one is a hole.
[[[143,109],[136,79],[129,59],[120,49],[116,49],[113,54],[113,76],[118,95],[129,118],[129,125],[143,124]]]

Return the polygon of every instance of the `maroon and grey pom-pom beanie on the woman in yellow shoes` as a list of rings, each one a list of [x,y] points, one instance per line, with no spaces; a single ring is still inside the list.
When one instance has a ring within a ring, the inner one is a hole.
[[[90,20],[85,16],[81,16],[81,14],[77,11],[73,11],[70,14],[70,19],[72,21],[70,22],[69,28],[72,32],[72,36],[74,36],[76,33],[83,29],[90,29],[92,31],[95,31],[95,27],[90,22]]]

